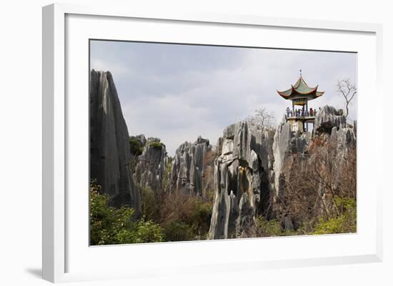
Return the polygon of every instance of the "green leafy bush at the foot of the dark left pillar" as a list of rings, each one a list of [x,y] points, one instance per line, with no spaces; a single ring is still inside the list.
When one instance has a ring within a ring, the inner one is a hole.
[[[164,240],[163,230],[151,220],[134,221],[134,209],[109,206],[109,196],[100,193],[101,186],[90,185],[91,245],[113,245]]]

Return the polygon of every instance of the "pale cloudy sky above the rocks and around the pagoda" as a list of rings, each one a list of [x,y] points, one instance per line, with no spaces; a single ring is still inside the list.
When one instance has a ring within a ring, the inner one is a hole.
[[[327,51],[94,40],[90,68],[112,73],[129,134],[161,138],[169,155],[198,136],[215,145],[225,127],[258,108],[278,125],[291,102],[276,90],[290,88],[300,69],[325,91],[309,108],[344,108],[337,81],[357,86],[356,53]],[[356,100],[349,118],[357,119]]]

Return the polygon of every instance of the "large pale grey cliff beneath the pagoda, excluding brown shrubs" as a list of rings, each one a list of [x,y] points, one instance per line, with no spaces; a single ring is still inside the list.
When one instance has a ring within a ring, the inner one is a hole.
[[[344,165],[347,151],[356,145],[356,124],[349,126],[342,111],[325,106],[317,115],[313,133],[292,132],[285,121],[275,131],[250,128],[247,122],[227,127],[217,144],[221,153],[214,163],[215,195],[209,238],[247,236],[245,232],[256,215],[272,215],[285,229],[292,230],[292,220],[280,213],[279,203],[284,200],[287,177],[295,163],[307,165],[316,160],[308,155],[316,138],[322,142],[319,148],[332,146],[329,148],[336,150],[331,155],[337,165]]]

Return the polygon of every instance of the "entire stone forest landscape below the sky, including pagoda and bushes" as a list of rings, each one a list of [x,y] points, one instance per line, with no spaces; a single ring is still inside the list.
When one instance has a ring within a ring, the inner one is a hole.
[[[292,101],[279,126],[228,122],[215,145],[200,134],[169,156],[129,134],[111,73],[92,70],[91,245],[356,233],[357,124],[309,109],[323,94],[300,76],[278,91]]]

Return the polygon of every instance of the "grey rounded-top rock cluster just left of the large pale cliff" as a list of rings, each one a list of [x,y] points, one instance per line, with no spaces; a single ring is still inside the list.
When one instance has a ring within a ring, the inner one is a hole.
[[[194,143],[184,142],[176,149],[169,175],[170,192],[201,195],[212,187],[212,162],[215,153],[209,139],[199,136]]]

